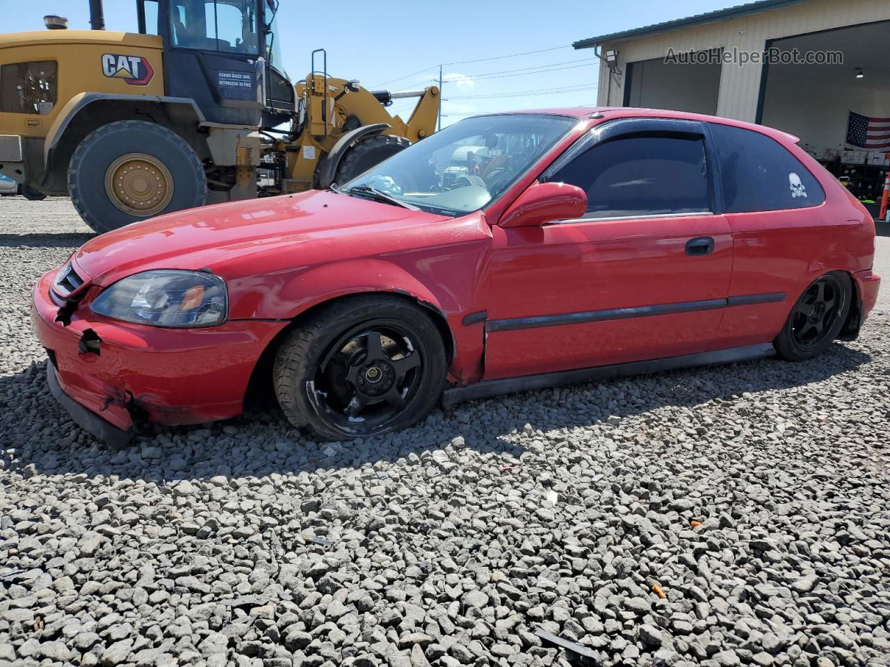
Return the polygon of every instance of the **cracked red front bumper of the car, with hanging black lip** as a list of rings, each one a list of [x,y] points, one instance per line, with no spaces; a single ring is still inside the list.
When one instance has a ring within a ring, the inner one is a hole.
[[[37,283],[31,307],[34,330],[50,358],[50,388],[75,422],[109,442],[129,439],[134,422],[175,426],[240,414],[257,360],[287,325],[129,324],[94,314],[94,293],[73,307],[60,301],[52,293],[55,274]]]

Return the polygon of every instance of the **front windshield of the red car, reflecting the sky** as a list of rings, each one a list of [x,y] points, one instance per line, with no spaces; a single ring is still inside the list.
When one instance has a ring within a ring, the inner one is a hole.
[[[467,118],[409,146],[343,189],[357,196],[374,189],[425,211],[470,213],[504,194],[577,123],[542,114]]]

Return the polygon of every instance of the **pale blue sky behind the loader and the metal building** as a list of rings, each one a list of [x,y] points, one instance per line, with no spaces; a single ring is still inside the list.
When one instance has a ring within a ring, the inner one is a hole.
[[[742,0],[471,0],[328,3],[281,0],[279,39],[292,80],[310,53],[328,51],[328,74],[371,90],[417,90],[443,72],[442,125],[477,113],[594,104],[598,64],[579,39],[711,12]],[[0,30],[43,29],[44,14],[89,28],[87,0],[0,0]],[[135,0],[105,0],[109,29],[136,31]],[[515,53],[524,53],[515,57]],[[389,109],[407,118],[412,100]]]

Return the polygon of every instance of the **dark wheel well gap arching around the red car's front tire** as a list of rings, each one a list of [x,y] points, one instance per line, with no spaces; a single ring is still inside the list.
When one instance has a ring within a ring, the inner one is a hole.
[[[318,315],[320,311],[329,308],[337,301],[357,296],[361,297],[380,295],[393,296],[425,309],[430,314],[430,317],[433,320],[433,324],[436,325],[436,328],[439,330],[442,344],[445,346],[445,357],[450,365],[451,361],[454,359],[455,354],[454,336],[451,333],[451,328],[449,327],[448,319],[445,317],[445,314],[432,303],[422,301],[420,299],[417,299],[415,296],[402,291],[358,292],[343,294],[341,296],[336,296],[326,301],[321,301],[320,303],[316,303],[311,308],[303,310],[302,313],[294,317],[290,321],[290,323],[281,331],[279,331],[279,333],[269,342],[269,344],[266,345],[266,348],[265,350],[263,350],[260,358],[257,359],[256,365],[254,366],[254,372],[250,375],[250,381],[247,383],[247,391],[245,392],[244,398],[245,409],[247,409],[248,403],[251,406],[269,406],[274,403],[275,394],[271,382],[272,365],[275,363],[275,354],[278,352],[279,345],[282,341],[284,341],[285,338],[287,338],[287,335],[290,332],[302,325],[303,322],[306,322],[312,317]]]

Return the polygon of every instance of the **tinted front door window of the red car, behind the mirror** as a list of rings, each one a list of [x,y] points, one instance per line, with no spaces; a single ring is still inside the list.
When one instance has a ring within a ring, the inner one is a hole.
[[[587,193],[585,218],[710,211],[701,138],[636,136],[607,141],[576,157],[549,181]]]

